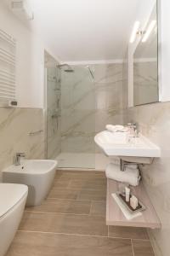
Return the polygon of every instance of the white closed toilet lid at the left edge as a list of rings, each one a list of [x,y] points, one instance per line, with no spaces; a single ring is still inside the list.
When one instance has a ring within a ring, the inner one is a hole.
[[[0,218],[14,207],[27,192],[26,185],[0,183]]]

